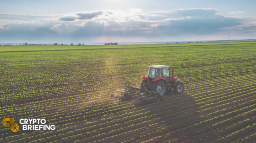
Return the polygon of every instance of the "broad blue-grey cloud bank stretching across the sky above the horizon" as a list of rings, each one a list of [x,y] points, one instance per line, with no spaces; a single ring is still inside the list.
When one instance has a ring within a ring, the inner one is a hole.
[[[227,33],[244,35],[254,32],[255,28],[255,17],[227,17],[218,14],[217,9],[213,8],[157,12],[142,12],[141,9],[131,9],[127,12],[112,10],[79,12],[74,15],[33,16],[30,21],[13,21],[0,26],[0,42],[9,39],[43,39],[49,42],[108,42],[107,40],[111,39],[120,42],[132,42],[137,39],[174,41],[183,36],[209,35],[212,38],[211,35]]]

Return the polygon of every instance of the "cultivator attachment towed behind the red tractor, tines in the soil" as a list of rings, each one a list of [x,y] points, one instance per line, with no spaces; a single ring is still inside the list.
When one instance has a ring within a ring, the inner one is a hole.
[[[137,104],[145,105],[149,101],[155,100],[156,102],[160,102],[163,100],[164,95],[147,90],[147,88],[145,88],[145,84],[143,84],[143,87],[144,89],[132,86],[125,86],[125,89],[117,90],[115,92],[118,93],[122,101],[135,99],[135,102],[137,102]]]

